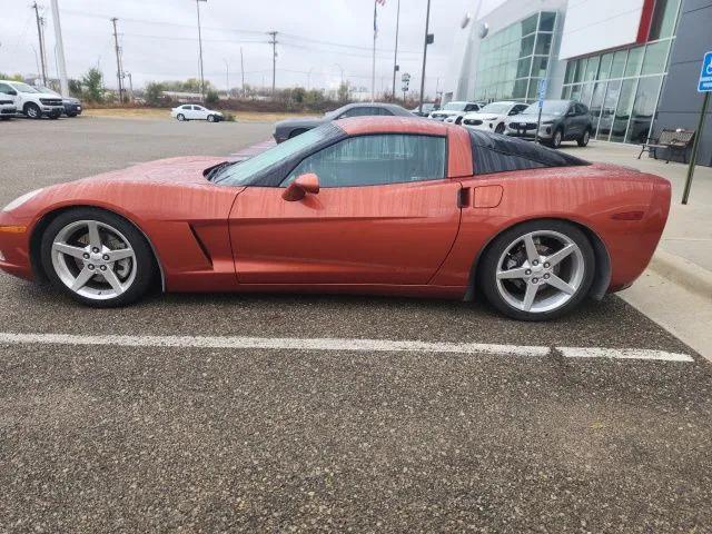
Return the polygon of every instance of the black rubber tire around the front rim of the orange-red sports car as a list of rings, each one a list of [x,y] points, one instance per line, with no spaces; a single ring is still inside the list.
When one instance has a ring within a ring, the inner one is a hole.
[[[55,238],[65,227],[81,220],[96,220],[116,228],[126,237],[128,245],[134,249],[136,256],[136,277],[121,295],[105,300],[88,298],[70,289],[57,274],[52,264],[52,244]],[[89,307],[112,308],[126,306],[138,300],[148,293],[156,273],[154,253],[144,235],[128,220],[102,209],[76,208],[60,214],[49,224],[42,234],[40,247],[42,268],[52,285],[70,298]]]

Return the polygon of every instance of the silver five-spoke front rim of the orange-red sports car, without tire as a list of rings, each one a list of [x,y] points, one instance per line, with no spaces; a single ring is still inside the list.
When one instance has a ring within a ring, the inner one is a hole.
[[[65,226],[52,241],[51,258],[62,284],[92,300],[116,298],[136,279],[136,255],[129,240],[97,220]]]

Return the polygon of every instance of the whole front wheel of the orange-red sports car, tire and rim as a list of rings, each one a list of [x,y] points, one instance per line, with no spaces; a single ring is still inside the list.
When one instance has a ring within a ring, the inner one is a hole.
[[[121,217],[93,208],[66,211],[52,220],[42,235],[41,257],[56,287],[98,308],[142,297],[155,271],[142,234]]]

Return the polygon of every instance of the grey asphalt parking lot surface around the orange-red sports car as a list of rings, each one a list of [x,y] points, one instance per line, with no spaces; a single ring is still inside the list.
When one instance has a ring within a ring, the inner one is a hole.
[[[0,129],[6,204],[131,162],[229,155],[271,126]],[[336,296],[156,295],[95,310],[0,274],[0,532],[712,532],[712,366],[615,296],[547,324]],[[225,336],[241,342],[206,342]],[[347,342],[245,342],[285,338]],[[364,339],[477,345],[349,342]]]

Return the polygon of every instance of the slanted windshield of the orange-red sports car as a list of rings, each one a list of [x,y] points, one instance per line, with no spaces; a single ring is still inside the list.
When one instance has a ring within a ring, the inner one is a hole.
[[[307,130],[300,136],[293,137],[277,145],[269,150],[264,151],[246,161],[240,161],[225,167],[215,176],[212,181],[226,186],[240,186],[248,184],[250,178],[258,172],[276,167],[280,162],[289,159],[295,154],[307,149],[313,145],[317,145],[333,132],[330,125]]]

